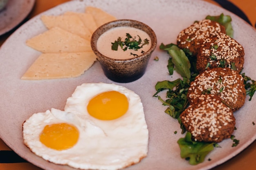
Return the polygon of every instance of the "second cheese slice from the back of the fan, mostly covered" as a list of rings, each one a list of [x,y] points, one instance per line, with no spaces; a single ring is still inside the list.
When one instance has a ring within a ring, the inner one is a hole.
[[[72,11],[67,11],[64,13],[64,15],[76,15],[78,16],[85,27],[89,29],[91,33],[94,33],[94,31],[98,28],[92,14],[90,13],[78,13],[78,12],[72,12]]]

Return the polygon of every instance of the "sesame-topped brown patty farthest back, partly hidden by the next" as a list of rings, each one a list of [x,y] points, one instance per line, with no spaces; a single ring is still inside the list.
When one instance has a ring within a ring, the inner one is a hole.
[[[180,49],[189,49],[193,55],[196,55],[197,49],[204,39],[218,35],[219,33],[226,33],[224,26],[215,21],[201,20],[179,33],[177,46]]]

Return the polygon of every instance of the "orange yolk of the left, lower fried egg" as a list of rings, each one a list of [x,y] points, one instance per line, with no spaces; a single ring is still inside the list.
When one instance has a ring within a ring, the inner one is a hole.
[[[79,138],[79,130],[71,124],[46,125],[40,134],[40,141],[55,150],[72,148]]]

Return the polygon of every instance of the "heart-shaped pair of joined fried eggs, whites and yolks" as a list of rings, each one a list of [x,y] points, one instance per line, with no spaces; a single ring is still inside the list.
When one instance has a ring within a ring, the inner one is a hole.
[[[43,159],[80,169],[117,170],[138,163],[148,152],[141,99],[116,84],[77,86],[64,111],[52,108],[27,119],[23,138]]]

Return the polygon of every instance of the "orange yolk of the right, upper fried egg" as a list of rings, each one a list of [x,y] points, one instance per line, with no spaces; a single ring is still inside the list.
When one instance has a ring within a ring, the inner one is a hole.
[[[117,91],[103,92],[88,103],[88,113],[100,120],[113,120],[124,115],[129,102],[126,95]]]

